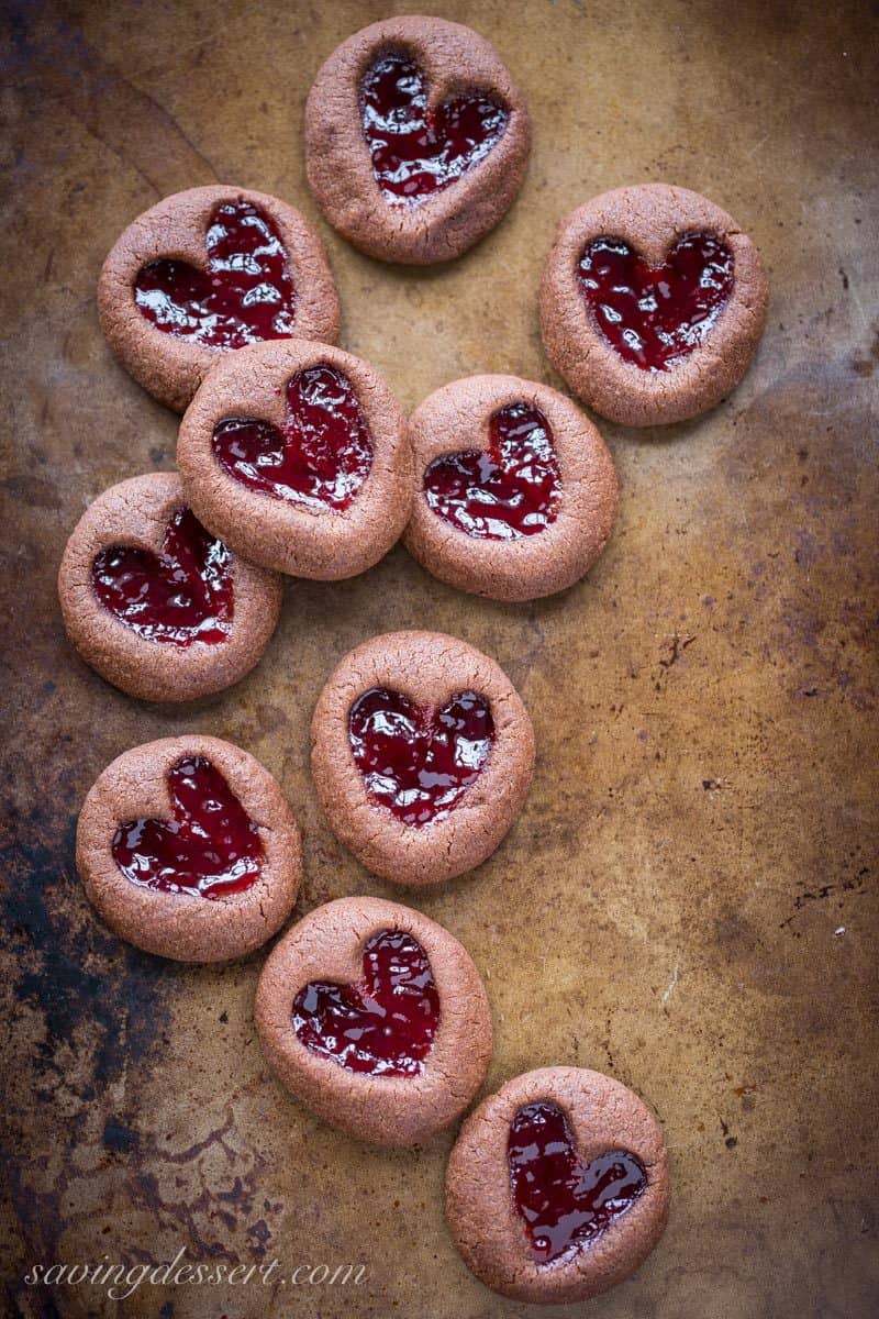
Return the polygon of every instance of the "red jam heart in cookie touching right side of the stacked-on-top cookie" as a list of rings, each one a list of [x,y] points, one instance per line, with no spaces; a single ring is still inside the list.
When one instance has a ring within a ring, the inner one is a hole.
[[[510,404],[489,422],[486,450],[435,459],[424,472],[434,512],[477,539],[515,541],[555,522],[559,464],[546,417],[528,404]]]

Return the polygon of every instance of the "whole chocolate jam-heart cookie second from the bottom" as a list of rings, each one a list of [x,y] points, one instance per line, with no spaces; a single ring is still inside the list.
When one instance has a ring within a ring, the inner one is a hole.
[[[378,898],[327,902],[283,936],[260,976],[256,1024],[287,1089],[381,1145],[449,1126],[492,1058],[489,1004],[467,950]]]

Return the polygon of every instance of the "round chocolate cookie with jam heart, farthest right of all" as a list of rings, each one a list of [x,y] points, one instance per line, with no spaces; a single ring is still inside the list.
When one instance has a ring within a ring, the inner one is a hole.
[[[642,183],[559,224],[540,326],[571,389],[623,426],[714,408],[756,351],[768,290],[760,256],[698,193]]]

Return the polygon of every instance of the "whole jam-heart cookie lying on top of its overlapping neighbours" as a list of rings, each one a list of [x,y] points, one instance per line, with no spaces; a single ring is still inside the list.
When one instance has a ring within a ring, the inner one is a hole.
[[[224,359],[181,425],[192,508],[239,554],[335,582],[377,563],[411,505],[406,419],[378,373],[304,339]]]

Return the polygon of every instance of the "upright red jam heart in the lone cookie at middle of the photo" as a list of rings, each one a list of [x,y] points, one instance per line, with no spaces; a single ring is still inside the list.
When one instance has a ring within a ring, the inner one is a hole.
[[[492,707],[461,691],[441,708],[373,687],[351,707],[348,737],[369,797],[405,824],[448,815],[492,752]]]

